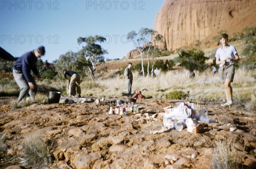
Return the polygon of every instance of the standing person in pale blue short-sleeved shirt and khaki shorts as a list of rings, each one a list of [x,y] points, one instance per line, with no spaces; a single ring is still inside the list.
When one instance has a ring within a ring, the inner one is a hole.
[[[227,102],[221,104],[222,107],[228,107],[233,104],[233,90],[231,87],[231,82],[233,82],[235,75],[234,62],[240,60],[236,48],[232,45],[228,45],[228,35],[221,34],[220,41],[221,47],[216,51],[216,64],[219,65],[219,77],[221,82],[224,83],[225,93]]]

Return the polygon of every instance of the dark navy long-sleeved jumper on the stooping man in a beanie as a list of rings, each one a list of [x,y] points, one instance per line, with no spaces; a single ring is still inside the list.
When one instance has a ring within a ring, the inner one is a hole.
[[[34,82],[30,72],[32,70],[36,75],[39,74],[35,66],[37,59],[38,58],[35,56],[34,51],[27,52],[17,59],[13,69],[21,71],[24,74],[27,82]]]

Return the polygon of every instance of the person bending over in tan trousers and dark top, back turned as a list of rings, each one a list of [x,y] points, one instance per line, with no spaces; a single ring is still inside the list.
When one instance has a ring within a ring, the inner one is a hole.
[[[68,96],[69,97],[71,97],[72,95],[75,96],[77,93],[78,97],[81,97],[80,75],[72,70],[66,70],[66,69],[62,70],[62,74],[65,77],[65,79],[67,79],[67,75],[71,77],[68,85]]]

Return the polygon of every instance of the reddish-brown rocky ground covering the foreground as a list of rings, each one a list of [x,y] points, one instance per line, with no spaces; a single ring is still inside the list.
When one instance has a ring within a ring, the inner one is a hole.
[[[197,104],[197,114],[205,106],[206,115],[216,120],[205,125],[201,133],[184,129],[153,135],[151,130],[162,128],[163,107],[173,104],[173,100],[138,100],[139,114],[108,115],[117,99],[127,102],[128,98],[105,99],[100,104],[32,104],[13,109],[10,103],[16,99],[0,98],[0,135],[8,138],[8,153],[18,154],[29,137],[55,141],[51,169],[210,169],[213,145],[224,139],[235,142],[239,168],[256,167],[256,114],[237,104],[229,108]],[[1,161],[0,169],[20,169],[10,165],[14,164]]]

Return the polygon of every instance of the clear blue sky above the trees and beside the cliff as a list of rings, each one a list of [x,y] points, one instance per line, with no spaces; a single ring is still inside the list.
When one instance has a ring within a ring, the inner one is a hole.
[[[102,35],[105,58],[122,58],[134,48],[126,35],[153,28],[164,0],[1,0],[0,46],[15,57],[44,45],[52,62],[78,51],[77,38]]]

